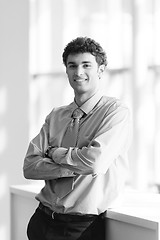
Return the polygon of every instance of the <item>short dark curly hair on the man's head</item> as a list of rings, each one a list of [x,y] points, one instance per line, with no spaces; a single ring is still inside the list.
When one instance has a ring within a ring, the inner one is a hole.
[[[70,54],[89,52],[96,58],[98,65],[107,66],[107,56],[103,48],[95,40],[88,37],[77,37],[67,44],[62,54],[63,63],[67,65],[67,58]]]

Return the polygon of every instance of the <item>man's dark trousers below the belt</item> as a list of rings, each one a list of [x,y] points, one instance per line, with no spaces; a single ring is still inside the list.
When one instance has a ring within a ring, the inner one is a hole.
[[[37,208],[29,221],[27,236],[29,240],[105,240],[105,217],[59,221]]]

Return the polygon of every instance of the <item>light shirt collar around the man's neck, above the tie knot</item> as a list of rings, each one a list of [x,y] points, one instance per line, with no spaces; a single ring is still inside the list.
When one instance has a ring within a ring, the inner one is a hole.
[[[100,91],[97,91],[91,98],[89,98],[81,107],[80,109],[88,114],[94,106],[98,103],[98,101],[101,99],[102,93]],[[73,103],[74,108],[78,108],[78,105],[74,102]]]

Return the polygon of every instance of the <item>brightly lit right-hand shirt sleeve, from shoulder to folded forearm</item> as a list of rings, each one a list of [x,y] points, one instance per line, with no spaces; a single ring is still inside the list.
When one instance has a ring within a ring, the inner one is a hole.
[[[80,148],[57,148],[52,158],[77,174],[106,173],[115,159],[126,155],[131,140],[130,112],[114,105],[100,124],[94,139]]]

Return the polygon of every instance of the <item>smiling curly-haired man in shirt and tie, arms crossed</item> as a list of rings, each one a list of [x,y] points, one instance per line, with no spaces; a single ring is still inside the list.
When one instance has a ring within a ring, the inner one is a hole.
[[[93,39],[71,41],[63,62],[75,98],[54,108],[30,142],[24,176],[44,180],[45,186],[27,234],[30,240],[101,240],[105,212],[124,183],[129,111],[120,100],[102,96],[107,59]]]

